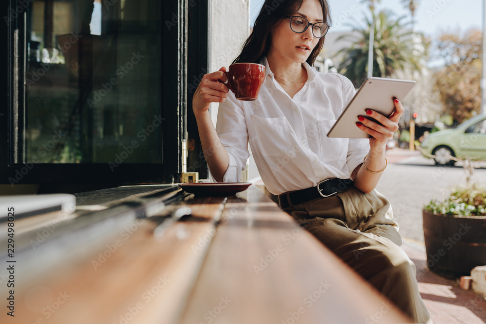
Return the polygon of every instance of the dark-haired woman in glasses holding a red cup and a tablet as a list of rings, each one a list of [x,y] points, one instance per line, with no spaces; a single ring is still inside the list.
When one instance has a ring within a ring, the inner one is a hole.
[[[275,1],[273,1],[275,2]],[[260,176],[280,207],[417,323],[431,323],[418,293],[415,266],[399,247],[398,224],[375,187],[386,168],[386,142],[403,107],[390,118],[356,120],[367,139],[328,138],[355,94],[339,74],[312,64],[330,24],[326,0],[266,0],[234,63],[265,65],[259,100],[240,102],[225,85],[225,68],[203,77],[193,111],[211,175],[239,182],[250,144]],[[215,129],[209,104],[220,102]],[[317,188],[316,188],[317,187]]]

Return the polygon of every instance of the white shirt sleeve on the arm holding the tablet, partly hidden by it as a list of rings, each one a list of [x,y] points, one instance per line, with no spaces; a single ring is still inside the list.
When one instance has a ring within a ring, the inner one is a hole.
[[[341,81],[343,82],[344,109],[353,99],[356,94],[356,89],[348,78],[342,77]],[[349,170],[352,172],[357,166],[363,163],[364,156],[368,153],[368,138],[349,138],[349,146],[347,150],[347,166]]]

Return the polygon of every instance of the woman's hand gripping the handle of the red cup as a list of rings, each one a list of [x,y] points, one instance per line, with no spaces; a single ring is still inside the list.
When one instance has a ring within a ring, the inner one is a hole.
[[[194,97],[192,97],[192,110],[194,114],[201,114],[209,109],[211,102],[225,102],[228,97],[229,89],[219,80],[226,82],[226,74],[223,73],[226,68],[220,68],[219,71],[209,73],[203,76],[197,86]]]

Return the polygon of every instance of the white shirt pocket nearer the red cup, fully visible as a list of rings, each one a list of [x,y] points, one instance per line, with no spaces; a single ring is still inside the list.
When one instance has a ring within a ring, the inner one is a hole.
[[[284,156],[292,148],[292,129],[285,117],[260,118],[251,115],[257,134],[256,142],[265,156]]]

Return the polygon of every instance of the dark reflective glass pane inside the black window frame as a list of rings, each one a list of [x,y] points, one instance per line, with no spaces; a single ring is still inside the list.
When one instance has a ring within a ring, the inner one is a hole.
[[[33,1],[25,162],[162,161],[160,5]]]

